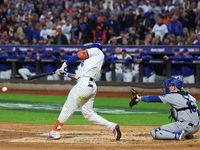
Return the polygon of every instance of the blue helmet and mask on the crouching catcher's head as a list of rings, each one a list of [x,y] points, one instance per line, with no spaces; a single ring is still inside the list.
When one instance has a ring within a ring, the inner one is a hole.
[[[179,88],[180,90],[183,90],[183,81],[179,78],[179,77],[171,77],[169,79],[165,79],[163,81],[163,94],[167,94],[169,93],[169,86],[176,86],[177,88]]]

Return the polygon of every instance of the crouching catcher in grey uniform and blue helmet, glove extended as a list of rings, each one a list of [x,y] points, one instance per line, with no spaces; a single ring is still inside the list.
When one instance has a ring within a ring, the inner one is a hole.
[[[159,102],[171,105],[171,116],[175,122],[163,125],[151,130],[151,136],[155,140],[185,140],[193,138],[193,134],[198,132],[199,110],[196,99],[183,89],[183,82],[179,78],[171,77],[163,81],[163,95],[142,96],[137,90],[131,89],[130,107],[139,101]]]

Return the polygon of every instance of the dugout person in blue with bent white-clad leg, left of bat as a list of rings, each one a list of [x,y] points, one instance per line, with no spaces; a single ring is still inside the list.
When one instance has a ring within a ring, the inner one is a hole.
[[[35,62],[28,62],[30,59],[36,59],[36,55],[33,54],[31,49],[26,51],[26,55],[24,57],[24,66],[18,70],[19,74],[23,77],[23,79],[27,80],[28,76],[36,75]]]

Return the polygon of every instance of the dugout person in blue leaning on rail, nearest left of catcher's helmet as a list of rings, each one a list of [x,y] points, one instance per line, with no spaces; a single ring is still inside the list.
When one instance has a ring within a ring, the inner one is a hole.
[[[140,58],[136,58],[136,63],[143,63],[143,82],[144,83],[153,83],[155,82],[155,72],[152,64],[145,63],[148,60],[153,59],[152,56],[148,55],[146,51],[142,51]]]

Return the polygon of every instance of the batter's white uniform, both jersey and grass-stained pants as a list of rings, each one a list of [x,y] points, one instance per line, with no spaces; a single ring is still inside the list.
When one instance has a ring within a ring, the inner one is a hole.
[[[116,124],[109,122],[93,111],[94,98],[97,93],[96,79],[98,78],[104,61],[104,54],[98,48],[87,49],[89,58],[80,63],[76,71],[77,84],[69,92],[67,101],[58,117],[58,121],[64,124],[75,112],[78,106],[86,120],[104,126],[111,131]],[[59,126],[59,129],[62,127]],[[57,128],[57,129],[58,129]],[[54,130],[51,134],[54,134]]]

